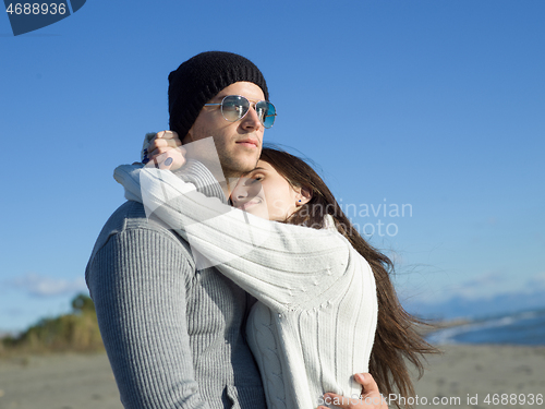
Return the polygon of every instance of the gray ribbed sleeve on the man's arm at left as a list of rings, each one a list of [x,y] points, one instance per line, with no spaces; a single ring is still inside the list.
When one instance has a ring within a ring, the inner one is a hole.
[[[125,408],[209,408],[185,322],[189,253],[153,229],[125,229],[96,250],[87,285]]]

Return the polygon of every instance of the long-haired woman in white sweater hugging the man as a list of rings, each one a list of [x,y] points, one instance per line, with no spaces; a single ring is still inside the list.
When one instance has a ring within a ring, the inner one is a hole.
[[[250,215],[184,194],[187,187],[171,173],[121,167],[116,177],[132,199],[147,200],[148,208],[261,301],[249,318],[249,339],[269,409],[315,408],[325,390],[359,395],[351,374],[367,370],[383,392],[395,385],[403,396],[412,393],[402,357],[421,370],[419,353],[433,348],[397,301],[385,268],[389,260],[353,229],[304,161],[264,149],[231,194]]]

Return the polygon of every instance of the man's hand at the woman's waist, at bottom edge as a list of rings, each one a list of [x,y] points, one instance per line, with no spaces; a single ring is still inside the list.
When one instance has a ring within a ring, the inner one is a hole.
[[[371,374],[356,373],[354,378],[362,385],[362,395],[359,399],[327,393],[324,395],[324,402],[342,409],[388,409],[386,399],[378,392],[378,386]],[[327,407],[319,406],[318,409],[327,409]]]

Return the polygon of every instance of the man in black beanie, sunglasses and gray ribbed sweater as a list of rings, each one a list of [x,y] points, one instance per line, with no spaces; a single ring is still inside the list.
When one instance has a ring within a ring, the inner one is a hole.
[[[227,96],[250,101],[243,118],[226,113]],[[265,118],[255,105],[267,99],[251,61],[203,52],[169,75],[170,128],[184,143],[214,136],[217,154],[197,148],[192,157],[209,167],[219,157],[226,178],[234,178],[257,163]],[[199,167],[186,165],[183,177],[221,195],[217,184],[192,179],[205,173]],[[266,407],[243,337],[246,293],[214,267],[197,270],[190,245],[147,219],[140,203],[124,203],[107,221],[85,276],[126,408]]]

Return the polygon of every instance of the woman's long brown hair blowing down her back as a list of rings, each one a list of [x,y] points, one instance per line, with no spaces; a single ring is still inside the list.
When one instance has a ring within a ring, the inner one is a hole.
[[[322,178],[304,160],[271,147],[263,149],[261,159],[270,164],[291,185],[306,188],[312,192],[311,201],[301,206],[286,222],[320,229],[324,227],[324,216],[329,214],[334,217],[339,232],[370,263],[375,276],[378,301],[378,320],[371,351],[370,373],[384,396],[399,393],[405,397],[407,402],[408,397],[414,396],[414,388],[405,359],[414,364],[419,375],[422,376],[423,354],[436,353],[438,350],[426,342],[417,332],[419,326],[429,324],[409,314],[401,306],[390,280],[390,273],[393,272],[392,262],[360,236]],[[395,405],[400,407],[398,401]]]

